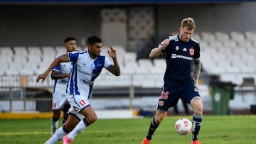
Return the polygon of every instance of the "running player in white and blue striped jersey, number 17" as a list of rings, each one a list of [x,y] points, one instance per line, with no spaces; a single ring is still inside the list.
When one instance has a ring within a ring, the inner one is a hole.
[[[108,54],[112,57],[114,64],[106,56],[100,55],[102,40],[97,36],[87,38],[87,48],[86,51],[68,52],[56,58],[46,72],[40,74],[36,79],[36,82],[39,82],[40,79],[43,82],[50,70],[60,62],[73,62],[73,71],[67,89],[68,102],[71,106],[68,120],[62,128],[58,128],[55,134],[46,141],[46,144],[57,143],[62,138],[63,143],[69,144],[78,133],[81,133],[87,126],[96,121],[97,116],[92,106],[90,106],[89,99],[93,82],[102,68],[105,67],[116,76],[120,75],[117,52],[111,45]]]

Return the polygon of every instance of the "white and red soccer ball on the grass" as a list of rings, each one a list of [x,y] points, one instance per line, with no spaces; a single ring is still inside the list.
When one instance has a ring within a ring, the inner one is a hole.
[[[175,130],[180,135],[187,135],[192,131],[192,123],[188,118],[180,118],[175,123]]]

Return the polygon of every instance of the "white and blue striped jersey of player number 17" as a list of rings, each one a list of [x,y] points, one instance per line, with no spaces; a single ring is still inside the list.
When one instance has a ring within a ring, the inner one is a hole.
[[[81,95],[90,99],[93,82],[103,67],[112,65],[110,59],[103,55],[92,59],[87,51],[68,52],[68,59],[73,62],[68,94]]]

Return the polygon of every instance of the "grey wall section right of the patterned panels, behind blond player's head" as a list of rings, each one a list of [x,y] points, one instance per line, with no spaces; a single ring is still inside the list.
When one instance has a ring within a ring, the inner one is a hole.
[[[182,18],[196,21],[196,32],[256,31],[256,2],[158,6],[158,37],[178,31]]]

